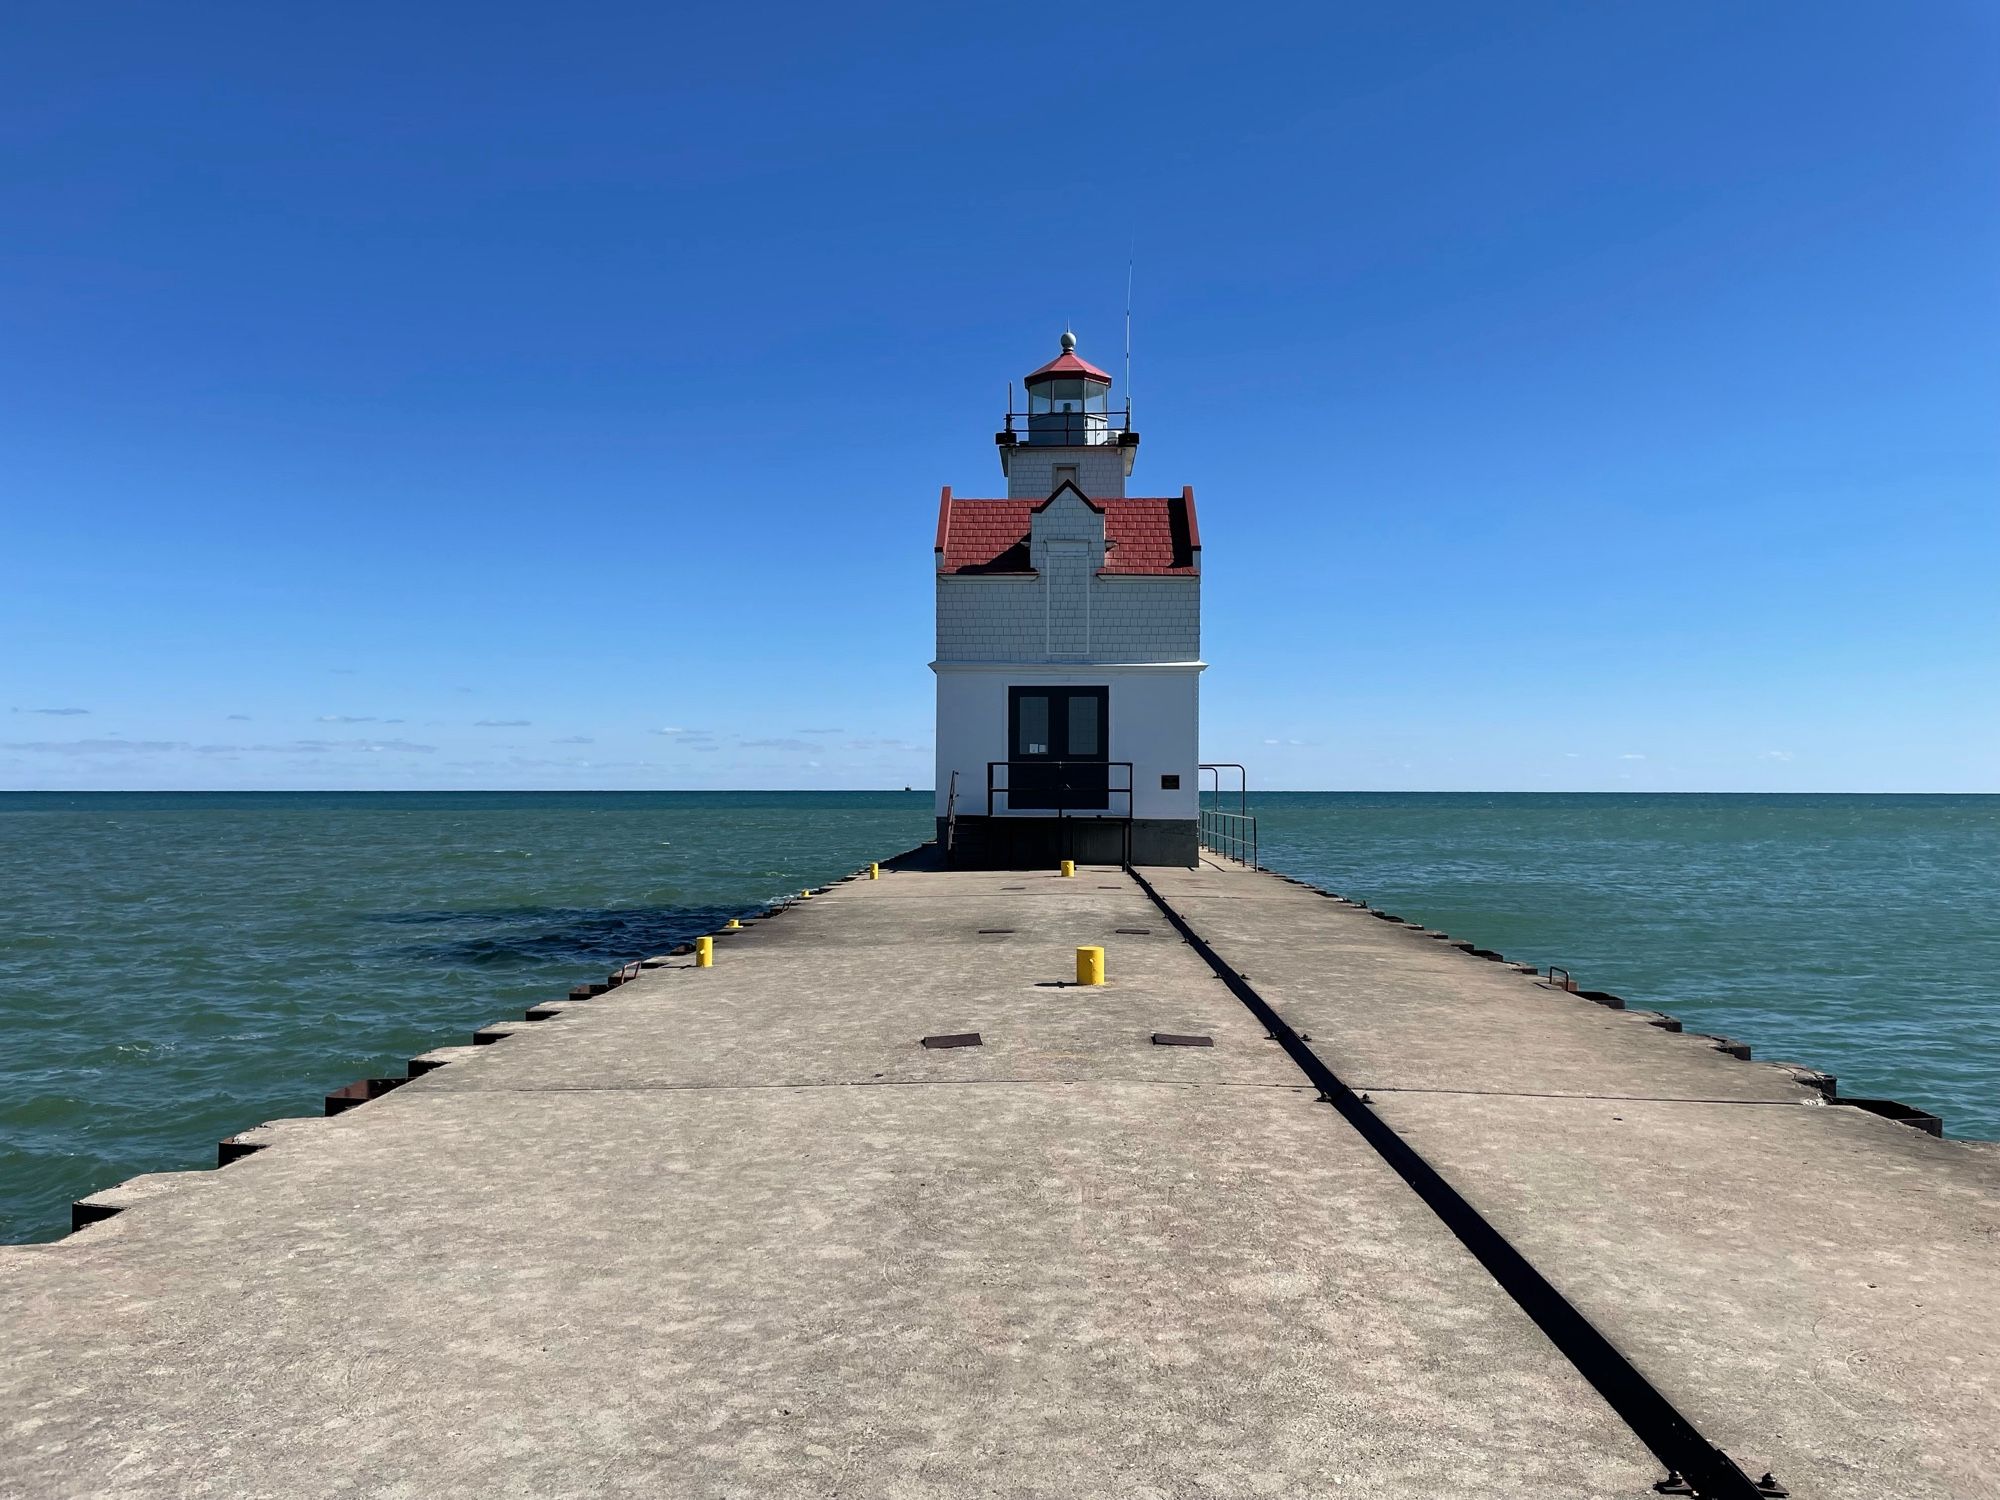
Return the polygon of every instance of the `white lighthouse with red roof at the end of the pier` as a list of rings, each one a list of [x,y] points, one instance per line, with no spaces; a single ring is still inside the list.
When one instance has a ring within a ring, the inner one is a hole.
[[[938,496],[938,844],[952,864],[1196,864],[1202,532],[1128,496],[1130,402],[1062,334],[994,436],[1006,496]]]

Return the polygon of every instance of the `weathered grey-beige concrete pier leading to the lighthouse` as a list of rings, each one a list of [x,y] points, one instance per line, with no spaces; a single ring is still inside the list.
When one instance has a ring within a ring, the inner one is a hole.
[[[1270,874],[1146,880],[1746,1474],[2000,1492],[2000,1150]],[[884,870],[634,972],[0,1250],[0,1494],[1664,1478],[1124,872]]]

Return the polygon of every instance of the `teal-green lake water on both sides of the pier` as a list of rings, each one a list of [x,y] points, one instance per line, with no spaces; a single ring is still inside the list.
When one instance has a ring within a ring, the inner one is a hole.
[[[2000,1138],[2000,798],[1262,794],[1264,862]],[[0,1240],[930,836],[930,794],[0,794]]]

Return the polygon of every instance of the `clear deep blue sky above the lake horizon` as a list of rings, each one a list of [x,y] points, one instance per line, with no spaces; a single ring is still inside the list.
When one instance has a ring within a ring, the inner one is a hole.
[[[2000,790],[1984,4],[42,6],[0,786],[926,786],[1118,366],[1264,786]]]

